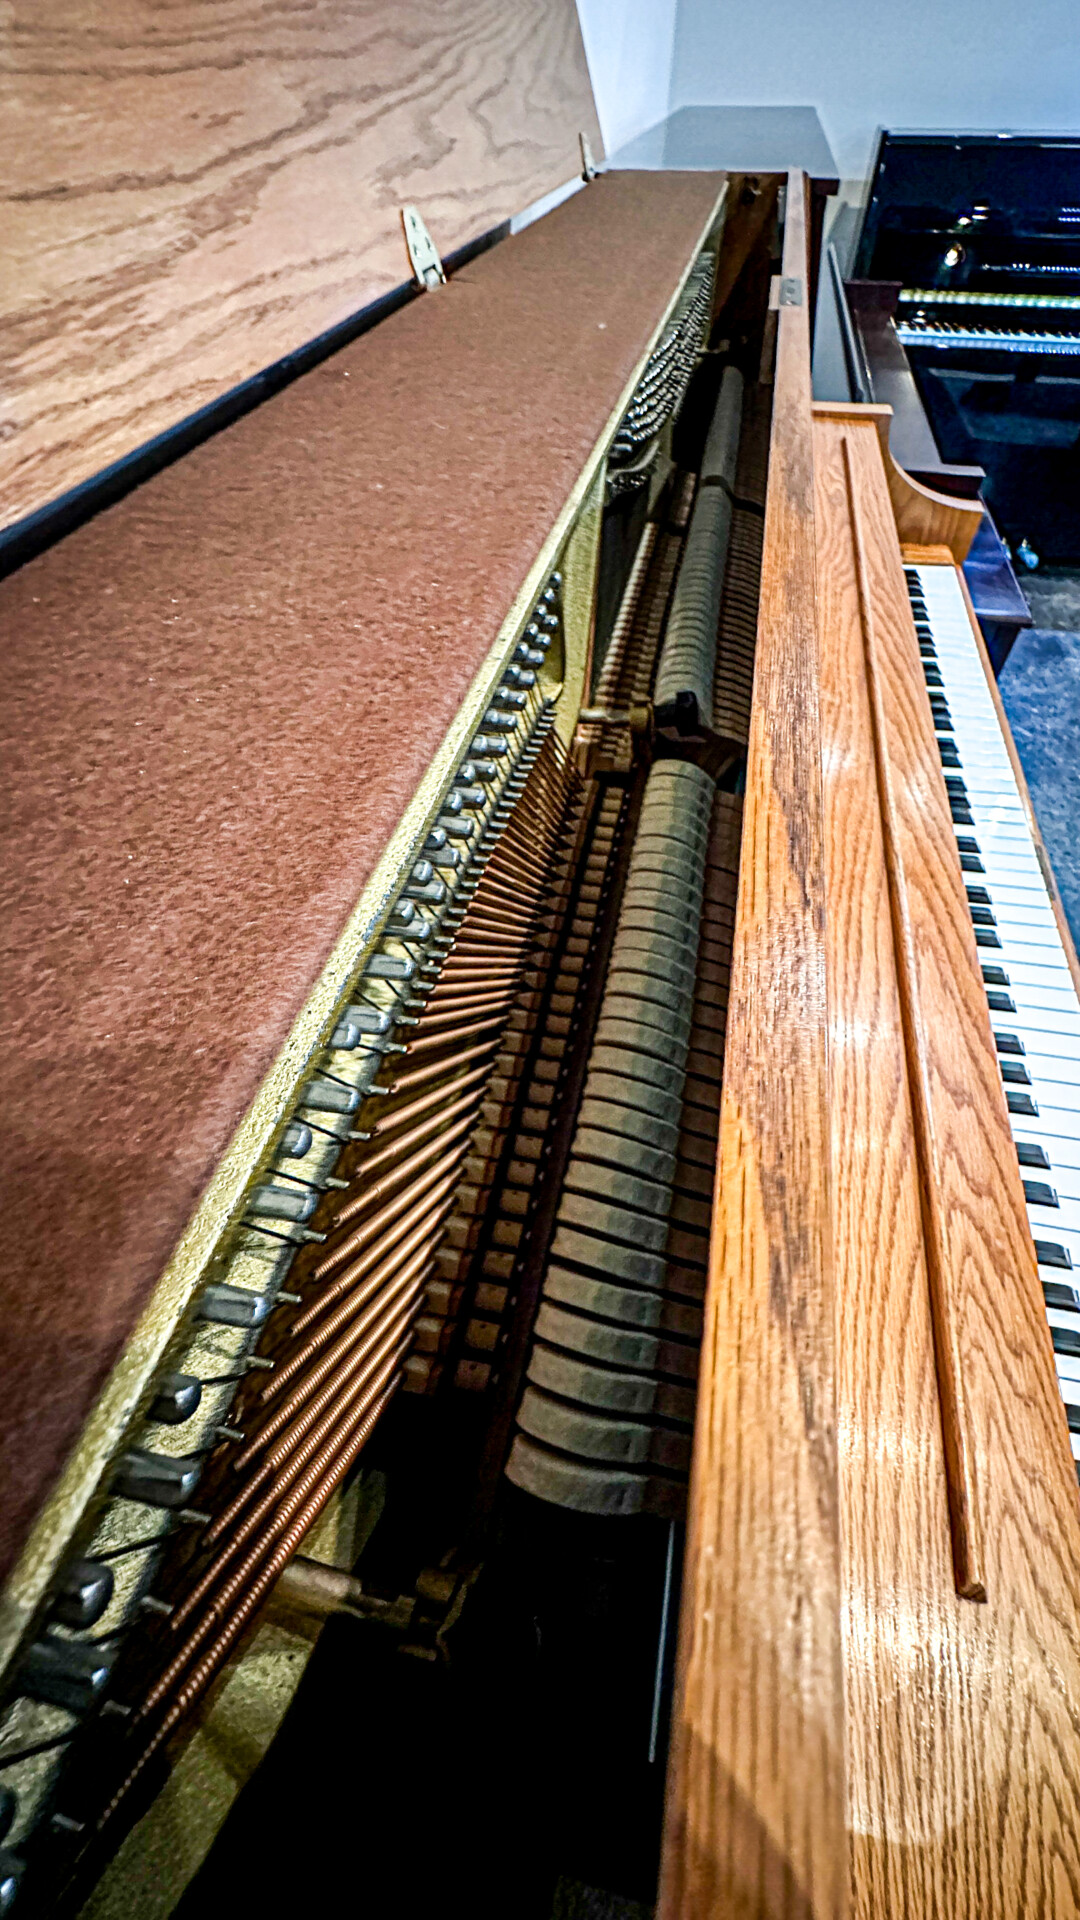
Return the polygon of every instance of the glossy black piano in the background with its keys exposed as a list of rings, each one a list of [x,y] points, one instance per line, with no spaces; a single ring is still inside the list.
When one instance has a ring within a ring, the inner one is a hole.
[[[882,132],[847,307],[901,465],[1080,561],[1080,134]]]

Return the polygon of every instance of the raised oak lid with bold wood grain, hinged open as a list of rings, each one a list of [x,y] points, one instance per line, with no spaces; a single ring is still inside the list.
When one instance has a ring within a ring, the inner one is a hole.
[[[12,0],[0,524],[601,152],[573,0]]]

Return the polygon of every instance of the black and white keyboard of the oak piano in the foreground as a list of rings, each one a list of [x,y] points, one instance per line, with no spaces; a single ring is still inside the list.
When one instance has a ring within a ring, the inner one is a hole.
[[[1080,1478],[1080,1000],[957,574],[905,572]]]

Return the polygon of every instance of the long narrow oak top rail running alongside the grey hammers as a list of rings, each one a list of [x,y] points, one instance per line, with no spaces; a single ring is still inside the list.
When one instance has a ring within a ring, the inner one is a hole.
[[[784,275],[807,284],[805,180]],[[663,1920],[844,1912],[809,328],[778,313]]]

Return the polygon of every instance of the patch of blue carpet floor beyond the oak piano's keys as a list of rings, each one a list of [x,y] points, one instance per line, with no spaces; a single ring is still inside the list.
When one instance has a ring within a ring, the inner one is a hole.
[[[1080,578],[1059,570],[1022,588],[1045,626],[1017,637],[997,685],[1080,947]]]

